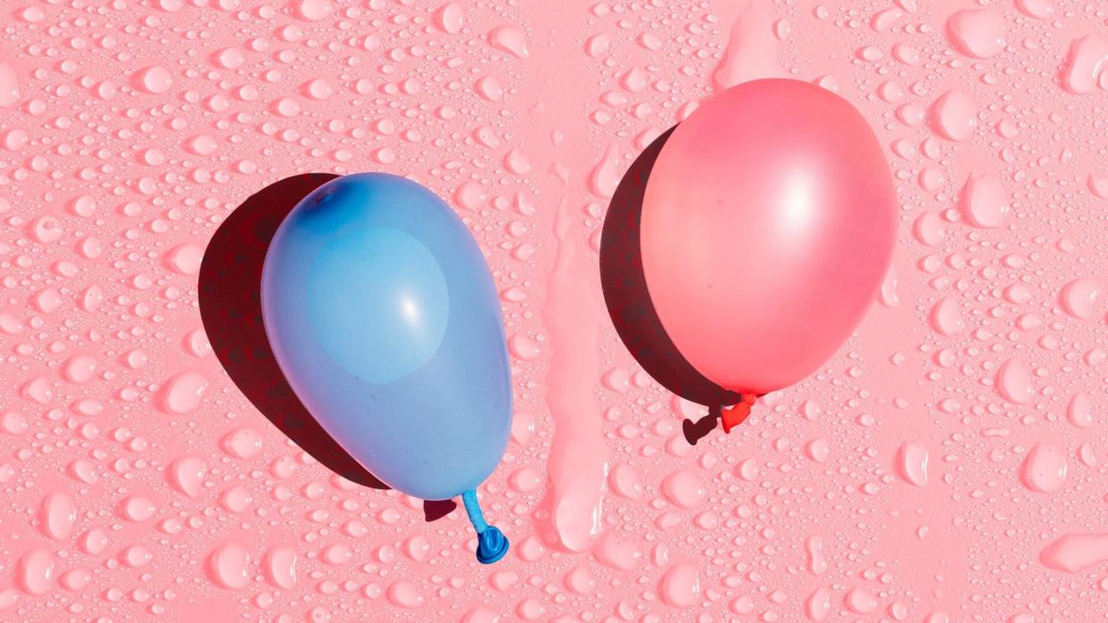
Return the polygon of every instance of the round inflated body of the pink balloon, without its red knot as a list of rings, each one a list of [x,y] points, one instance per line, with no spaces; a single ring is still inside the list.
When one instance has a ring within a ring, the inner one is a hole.
[[[701,374],[763,394],[815,371],[880,285],[896,194],[876,136],[794,80],[719,93],[674,131],[646,185],[643,270]]]

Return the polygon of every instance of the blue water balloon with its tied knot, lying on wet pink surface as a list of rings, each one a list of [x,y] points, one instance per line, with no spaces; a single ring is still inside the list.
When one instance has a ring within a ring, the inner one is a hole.
[[[393,175],[324,184],[269,245],[261,311],[289,385],[350,456],[411,496],[462,496],[478,559],[503,557],[474,490],[511,428],[504,324],[453,210]]]

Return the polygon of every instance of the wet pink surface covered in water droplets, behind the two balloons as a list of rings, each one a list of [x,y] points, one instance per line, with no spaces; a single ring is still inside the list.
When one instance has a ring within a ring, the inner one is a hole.
[[[0,3],[0,620],[1104,620],[1108,6],[747,4]],[[654,136],[765,75],[878,132],[894,271],[820,372],[690,447],[599,228]],[[499,564],[460,511],[315,464],[211,353],[206,241],[309,170],[410,175],[488,253]]]

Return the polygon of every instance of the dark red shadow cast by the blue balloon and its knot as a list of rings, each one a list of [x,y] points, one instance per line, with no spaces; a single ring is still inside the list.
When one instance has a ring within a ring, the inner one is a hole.
[[[252,195],[227,217],[201,264],[201,318],[219,363],[274,426],[331,471],[366,487],[388,489],[308,413],[278,367],[261,322],[261,268],[277,227],[300,199],[336,177],[326,173],[286,177]],[[456,506],[453,500],[427,501],[424,518],[434,521]]]

